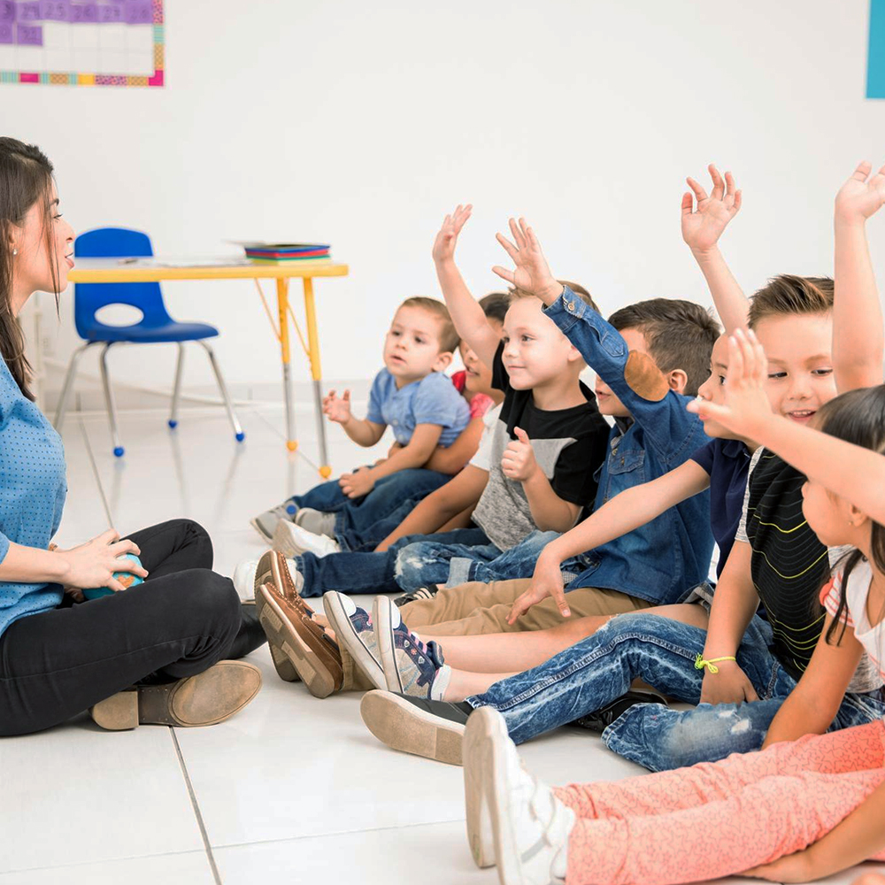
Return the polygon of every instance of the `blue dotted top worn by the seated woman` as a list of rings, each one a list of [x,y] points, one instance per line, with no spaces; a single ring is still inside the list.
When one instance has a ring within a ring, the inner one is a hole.
[[[65,447],[0,359],[0,562],[11,542],[46,550],[65,506]],[[0,635],[13,621],[56,608],[58,584],[0,581]]]

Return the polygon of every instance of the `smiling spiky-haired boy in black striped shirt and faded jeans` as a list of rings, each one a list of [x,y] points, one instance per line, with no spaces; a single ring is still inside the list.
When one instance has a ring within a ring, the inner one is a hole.
[[[689,181],[698,211],[691,212],[687,197],[683,212],[708,220],[720,214],[724,220],[709,238],[715,248],[728,220],[717,210],[734,199],[735,191],[730,177],[726,190],[719,174],[711,172],[712,196]],[[881,382],[881,307],[865,222],[885,201],[885,176],[866,181],[869,172],[869,165],[858,166],[836,198],[835,307],[828,281],[779,277],[758,292],[750,308],[750,327],[769,360],[773,411],[801,423],[835,396],[837,387]],[[719,270],[724,267],[720,261]],[[730,273],[727,279],[733,281]],[[735,287],[732,296],[740,295]],[[729,287],[711,288],[719,302]],[[723,315],[740,314],[734,298],[719,306]],[[515,739],[524,741],[599,711],[641,678],[668,696],[703,703],[689,712],[658,704],[629,705],[626,711],[615,705],[597,716],[610,749],[652,770],[758,750],[820,636],[825,618],[818,594],[840,551],[827,551],[805,522],[801,473],[766,450],[757,451],[751,470],[742,527],[713,599],[708,632],[646,615],[616,619],[543,666],[468,698],[466,708],[445,704],[435,710],[435,728],[458,735],[461,725],[446,725],[445,717],[463,723],[468,709],[490,704],[504,713]],[[768,622],[755,616],[760,601]],[[833,727],[881,717],[880,689],[881,679],[862,662]],[[419,713],[429,727],[427,711]],[[799,735],[778,739],[785,736]]]

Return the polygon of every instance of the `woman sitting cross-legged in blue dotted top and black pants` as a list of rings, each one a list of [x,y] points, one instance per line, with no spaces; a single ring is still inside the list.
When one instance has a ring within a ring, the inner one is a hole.
[[[264,643],[253,606],[212,571],[188,519],[120,540],[110,530],[50,550],[65,504],[61,438],[33,402],[17,317],[37,290],[62,292],[73,228],[41,150],[0,137],[0,735],[89,710],[105,728],[212,725],[258,693],[241,658]],[[139,567],[124,553],[141,558]],[[144,583],[123,589],[113,573]],[[82,589],[109,588],[83,602]]]

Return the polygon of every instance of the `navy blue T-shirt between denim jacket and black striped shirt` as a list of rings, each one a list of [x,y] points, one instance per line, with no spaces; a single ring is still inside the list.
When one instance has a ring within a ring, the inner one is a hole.
[[[741,522],[743,495],[750,470],[750,450],[740,440],[713,440],[701,446],[691,460],[710,474],[710,528],[720,549],[716,577],[720,577],[735,544]]]

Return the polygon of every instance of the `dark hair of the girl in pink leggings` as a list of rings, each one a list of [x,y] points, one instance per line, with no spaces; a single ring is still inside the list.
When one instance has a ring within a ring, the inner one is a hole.
[[[836,396],[822,406],[817,414],[817,426],[825,434],[835,436],[846,443],[854,443],[864,449],[878,451],[885,455],[885,384],[874,388],[850,390],[842,396]],[[863,560],[860,550],[851,550],[843,558],[842,587],[839,594],[839,607],[835,612],[833,623],[827,630],[827,643],[834,644],[838,625],[842,625],[835,644],[842,642],[845,634],[843,620],[848,601],[846,588],[850,573]],[[885,527],[873,522],[873,534],[870,542],[870,558],[880,572],[885,572]]]

